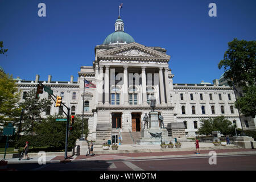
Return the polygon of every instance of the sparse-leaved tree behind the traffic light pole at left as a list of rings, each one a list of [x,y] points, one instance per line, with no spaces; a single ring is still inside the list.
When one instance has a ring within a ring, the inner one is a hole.
[[[51,106],[51,100],[46,98],[37,99],[36,90],[30,90],[24,98],[24,102],[20,102],[19,106],[24,109],[22,131],[25,135],[33,135],[35,133],[35,124],[42,122],[42,112]]]

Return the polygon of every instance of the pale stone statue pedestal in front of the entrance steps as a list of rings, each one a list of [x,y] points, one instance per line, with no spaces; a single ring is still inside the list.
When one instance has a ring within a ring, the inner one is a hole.
[[[172,138],[168,137],[167,129],[160,129],[158,122],[158,112],[149,113],[149,129],[142,130],[141,137],[142,139],[137,140],[137,144],[141,145],[151,145],[151,144],[161,144],[161,137],[152,137],[152,134],[162,133],[162,142],[169,143]]]

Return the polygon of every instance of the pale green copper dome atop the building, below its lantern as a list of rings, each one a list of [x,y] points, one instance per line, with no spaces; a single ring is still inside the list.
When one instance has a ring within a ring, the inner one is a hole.
[[[109,36],[106,37],[106,39],[104,40],[103,44],[104,45],[109,45],[110,43],[132,43],[135,42],[135,40],[133,39],[132,36],[130,36],[129,34],[127,34],[126,32],[123,31],[115,31],[112,34],[110,34]]]

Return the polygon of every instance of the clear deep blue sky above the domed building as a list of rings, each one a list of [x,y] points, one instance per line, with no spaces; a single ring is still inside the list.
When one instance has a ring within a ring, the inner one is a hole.
[[[46,17],[38,4],[46,3]],[[209,3],[217,17],[209,17]],[[255,40],[256,1],[84,1],[0,0],[0,55],[6,73],[25,80],[77,81],[80,67],[92,65],[94,47],[114,32],[118,5],[125,32],[144,46],[160,46],[171,56],[174,83],[211,82],[224,72],[217,65],[233,38]]]

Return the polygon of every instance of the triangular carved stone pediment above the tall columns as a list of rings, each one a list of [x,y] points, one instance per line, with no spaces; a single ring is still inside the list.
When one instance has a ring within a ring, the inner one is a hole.
[[[138,43],[130,43],[107,51],[102,51],[97,54],[98,57],[160,57],[164,59],[170,59],[169,55],[156,51],[150,47],[143,46]]]

